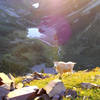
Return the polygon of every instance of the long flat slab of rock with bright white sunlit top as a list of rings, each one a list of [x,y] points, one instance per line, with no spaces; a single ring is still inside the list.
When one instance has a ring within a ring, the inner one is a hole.
[[[33,92],[36,92],[38,89],[37,86],[29,86],[21,89],[16,89],[12,92],[9,92],[7,95],[7,100],[27,100],[29,96],[32,95]]]

